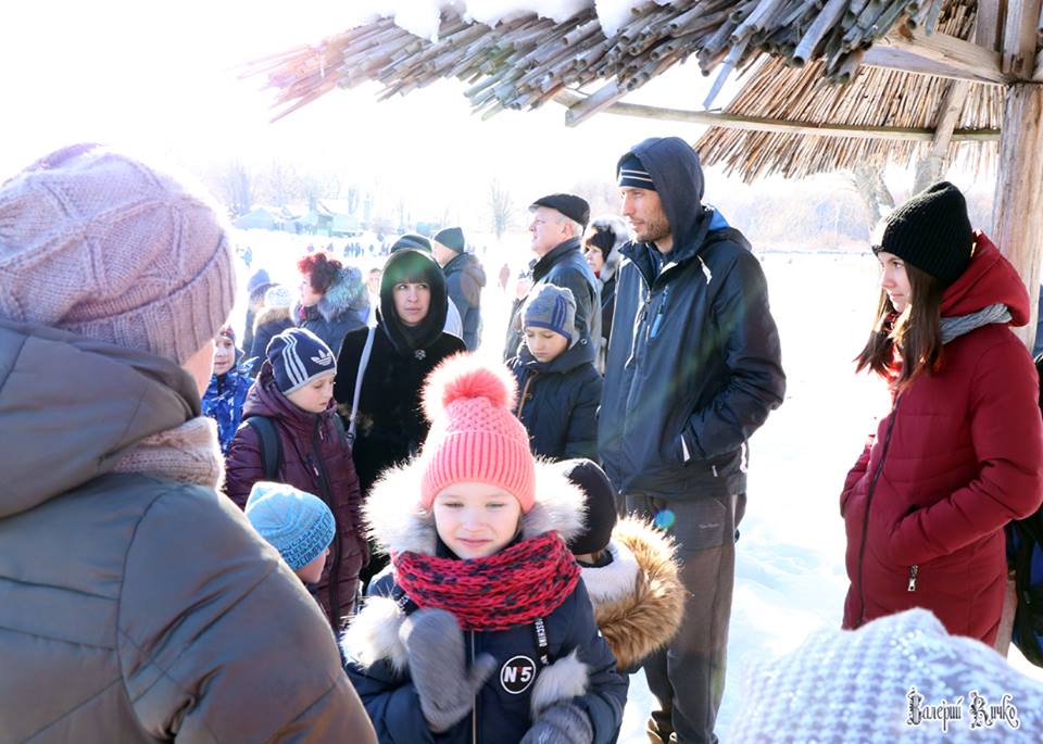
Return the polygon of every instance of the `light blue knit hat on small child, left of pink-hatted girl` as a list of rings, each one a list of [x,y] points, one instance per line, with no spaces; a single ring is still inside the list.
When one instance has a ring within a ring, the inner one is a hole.
[[[318,496],[286,483],[257,481],[247,500],[247,519],[294,571],[334,541],[334,513]]]

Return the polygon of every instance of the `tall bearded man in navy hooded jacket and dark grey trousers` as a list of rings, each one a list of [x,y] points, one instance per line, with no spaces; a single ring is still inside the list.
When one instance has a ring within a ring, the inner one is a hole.
[[[617,165],[621,249],[598,452],[629,510],[668,528],[684,622],[644,665],[653,741],[716,742],[746,502],[747,441],[782,403],[779,335],[761,264],[703,201],[699,155],[652,138]]]

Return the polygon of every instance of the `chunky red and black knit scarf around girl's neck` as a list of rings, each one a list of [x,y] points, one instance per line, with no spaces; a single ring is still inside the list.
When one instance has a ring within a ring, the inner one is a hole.
[[[506,630],[548,617],[576,588],[579,566],[556,532],[487,558],[457,560],[406,551],[391,556],[399,587],[418,607],[456,616],[464,630]]]

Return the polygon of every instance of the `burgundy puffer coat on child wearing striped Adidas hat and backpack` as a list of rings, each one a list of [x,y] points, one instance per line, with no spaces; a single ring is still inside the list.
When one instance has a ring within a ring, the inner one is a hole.
[[[330,622],[351,613],[359,571],[366,559],[359,507],[362,495],[359,477],[351,461],[351,452],[340,436],[335,420],[335,404],[323,414],[305,413],[279,392],[267,362],[261,368],[256,383],[250,389],[242,409],[242,420],[251,416],[267,416],[275,421],[282,446],[282,462],[275,480],[314,493],[325,501],[337,520],[337,535],[329,547],[317,596]],[[264,479],[261,462],[261,442],[252,428],[243,426],[236,433],[225,457],[225,493],[239,508],[246,508],[253,484]],[[330,613],[336,581],[337,608]]]

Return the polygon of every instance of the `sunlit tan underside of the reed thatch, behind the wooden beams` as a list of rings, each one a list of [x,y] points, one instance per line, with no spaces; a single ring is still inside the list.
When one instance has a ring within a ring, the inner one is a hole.
[[[973,9],[955,5],[946,14],[939,30],[962,39],[971,36]],[[821,67],[822,63],[816,62],[799,70],[787,67],[783,60],[769,60],[752,75],[725,113],[813,125],[907,129],[920,133],[920,139],[816,137],[713,127],[695,146],[703,162],[721,164],[746,181],[772,174],[801,178],[884,162],[909,164],[930,153],[931,135],[944,113],[945,97],[955,86],[966,86],[954,136],[943,151],[951,163],[981,173],[992,168],[1003,117],[1001,86],[862,67],[849,85],[838,87],[826,83]]]

